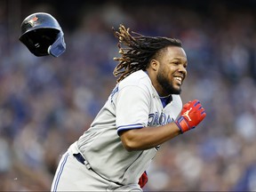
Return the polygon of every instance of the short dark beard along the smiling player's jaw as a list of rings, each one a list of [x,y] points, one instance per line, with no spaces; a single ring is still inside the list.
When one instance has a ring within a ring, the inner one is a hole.
[[[167,75],[164,74],[164,70],[160,70],[156,76],[156,80],[158,83],[162,86],[162,89],[164,92],[169,94],[180,94],[181,89],[180,88],[175,88],[172,84],[172,82],[169,81],[169,78]]]

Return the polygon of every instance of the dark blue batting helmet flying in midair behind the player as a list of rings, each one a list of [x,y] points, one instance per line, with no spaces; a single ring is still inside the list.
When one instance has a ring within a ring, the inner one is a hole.
[[[36,12],[21,23],[20,42],[36,56],[59,57],[65,52],[64,33],[59,22],[51,14]]]

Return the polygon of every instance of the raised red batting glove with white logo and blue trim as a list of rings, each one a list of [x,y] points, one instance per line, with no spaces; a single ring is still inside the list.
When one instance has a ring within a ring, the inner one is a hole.
[[[180,132],[187,132],[194,129],[197,124],[203,121],[206,113],[201,106],[199,100],[193,100],[186,103],[180,113],[180,117],[175,121],[178,125]]]

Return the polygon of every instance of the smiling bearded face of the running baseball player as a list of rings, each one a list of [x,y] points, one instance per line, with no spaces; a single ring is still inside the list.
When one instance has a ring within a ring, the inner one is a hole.
[[[169,94],[180,94],[181,84],[187,76],[187,56],[181,47],[169,46],[160,53],[159,68],[156,75],[158,85],[160,85],[160,96]]]

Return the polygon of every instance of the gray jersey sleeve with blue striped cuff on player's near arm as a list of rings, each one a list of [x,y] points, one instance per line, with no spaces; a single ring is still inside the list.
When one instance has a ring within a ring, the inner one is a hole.
[[[141,87],[130,85],[120,90],[116,97],[117,133],[147,126],[149,107],[150,95]]]

